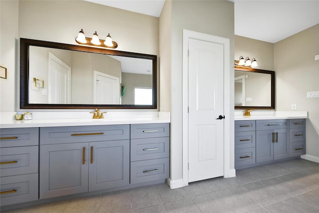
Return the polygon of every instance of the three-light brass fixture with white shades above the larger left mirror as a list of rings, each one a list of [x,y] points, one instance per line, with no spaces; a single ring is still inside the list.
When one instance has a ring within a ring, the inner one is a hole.
[[[115,41],[112,41],[110,33],[106,36],[105,40],[99,39],[98,33],[95,31],[92,38],[85,37],[83,29],[79,31],[78,36],[75,38],[75,41],[79,44],[98,46],[98,47],[107,47],[115,49],[118,47],[118,44]]]

